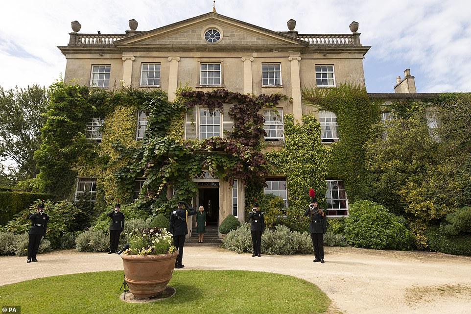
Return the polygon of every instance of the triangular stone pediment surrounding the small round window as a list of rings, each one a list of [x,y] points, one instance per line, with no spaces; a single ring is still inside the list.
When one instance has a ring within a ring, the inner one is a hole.
[[[208,43],[204,34],[216,29],[220,40]],[[126,46],[307,46],[305,41],[217,13],[206,13],[188,20],[156,28],[115,42]]]

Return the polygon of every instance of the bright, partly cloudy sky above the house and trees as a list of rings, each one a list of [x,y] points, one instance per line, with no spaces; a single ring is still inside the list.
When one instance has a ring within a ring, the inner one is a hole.
[[[212,11],[212,0],[0,0],[0,86],[49,86],[61,78],[71,22],[80,33],[151,30]],[[351,33],[359,23],[369,93],[394,93],[405,69],[418,93],[471,92],[469,0],[216,0],[217,13],[274,31]]]

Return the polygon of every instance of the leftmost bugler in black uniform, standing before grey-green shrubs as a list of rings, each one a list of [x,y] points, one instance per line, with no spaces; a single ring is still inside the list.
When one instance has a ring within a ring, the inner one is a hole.
[[[26,263],[37,262],[36,254],[38,254],[39,243],[41,238],[46,234],[47,221],[49,216],[44,213],[44,203],[38,204],[36,213],[30,214],[28,219],[31,220],[31,227],[29,228],[28,236],[28,259]]]

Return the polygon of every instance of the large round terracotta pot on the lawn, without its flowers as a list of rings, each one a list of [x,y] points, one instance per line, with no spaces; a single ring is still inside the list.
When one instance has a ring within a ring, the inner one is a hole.
[[[172,279],[178,251],[160,255],[120,255],[124,280],[135,298],[151,298],[164,291]]]

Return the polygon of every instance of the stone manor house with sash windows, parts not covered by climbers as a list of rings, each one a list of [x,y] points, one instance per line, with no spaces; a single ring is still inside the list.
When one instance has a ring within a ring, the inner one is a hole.
[[[283,116],[292,114],[295,121],[312,111],[302,103],[303,87],[329,88],[343,83],[364,86],[363,57],[368,46],[360,43],[358,24],[350,25],[346,34],[301,34],[294,30],[295,21],[288,21],[287,31],[273,31],[210,12],[178,23],[149,31],[136,31],[138,23],[129,21],[130,30],[120,34],[81,34],[80,24],[72,22],[70,42],[59,49],[66,56],[66,82],[113,89],[121,84],[133,88],[160,88],[175,98],[177,87],[188,84],[196,91],[224,88],[242,94],[281,93],[292,102],[282,101],[279,115],[263,110],[268,150],[283,144]],[[406,70],[395,87],[398,94],[369,94],[370,97],[392,99],[421,97],[416,93],[414,77]],[[409,95],[407,95],[409,94]],[[422,95],[423,96],[423,95]],[[229,105],[222,112],[209,114],[207,108],[194,107],[185,122],[186,139],[223,136],[232,128]],[[338,141],[336,116],[332,112],[314,113],[321,123],[321,140],[325,145]],[[387,114],[383,115],[387,119]],[[194,123],[196,122],[196,123]],[[87,136],[99,142],[98,129],[103,120],[90,117]],[[146,113],[136,112],[136,140],[146,128]],[[139,195],[143,178],[136,180]],[[219,224],[227,215],[245,219],[244,187],[230,187],[227,182],[202,170],[195,207],[208,206],[210,222]],[[274,193],[289,202],[286,179],[266,178],[265,193]],[[343,181],[329,178],[328,216],[348,215],[348,199]],[[76,195],[96,192],[96,179],[78,177]],[[137,197],[137,196],[136,196]]]

